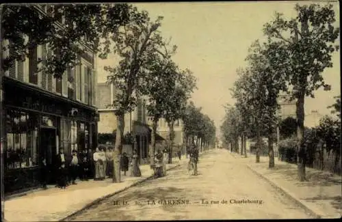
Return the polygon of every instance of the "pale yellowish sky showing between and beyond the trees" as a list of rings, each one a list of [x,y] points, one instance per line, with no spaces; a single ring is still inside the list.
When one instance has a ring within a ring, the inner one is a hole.
[[[300,1],[301,3],[311,3]],[[256,2],[191,2],[191,3],[135,3],[139,10],[148,11],[150,18],[163,16],[160,28],[163,37],[172,37],[172,44],[178,46],[174,61],[182,69],[189,68],[197,79],[198,89],[192,95],[202,113],[214,120],[220,136],[220,125],[224,118],[225,104],[233,105],[235,100],[229,89],[237,80],[236,70],[245,67],[248,48],[257,39],[263,38],[263,25],[272,18],[274,12],[281,12],[287,18],[294,17],[297,1],[256,1]],[[339,5],[334,4],[337,24]],[[306,98],[306,125],[312,125],[313,109],[318,116],[330,113],[326,109],[334,103],[333,96],[340,95],[340,55],[334,53],[333,68],[324,71],[326,83],[332,90],[319,89],[315,98]],[[113,64],[112,58],[98,60],[98,82],[106,79],[103,66]],[[317,115],[316,115],[317,116]]]

